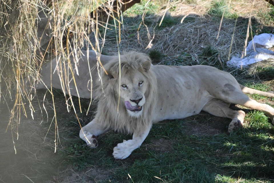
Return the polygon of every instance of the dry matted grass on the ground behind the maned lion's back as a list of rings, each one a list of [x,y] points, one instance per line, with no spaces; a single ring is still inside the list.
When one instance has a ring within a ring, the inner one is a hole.
[[[242,54],[242,50],[244,49],[243,35],[246,35],[247,33],[248,19],[252,11],[252,1],[250,1],[250,3],[250,5],[247,3],[249,6],[245,11],[240,8],[242,3],[233,4],[237,14],[244,16],[239,17],[237,22],[235,19],[223,20],[218,39],[217,35],[220,19],[210,17],[210,15],[206,14],[208,8],[202,8],[209,7],[211,1],[204,1],[198,5],[177,4],[176,10],[170,12],[170,15],[172,18],[178,20],[184,18],[184,21],[171,27],[155,29],[155,26],[158,26],[157,21],[159,17],[162,17],[163,15],[161,12],[157,15],[147,16],[146,19],[150,20],[152,24],[148,26],[148,28],[143,26],[142,29],[137,29],[137,31],[139,30],[139,33],[136,33],[135,27],[132,28],[133,25],[127,25],[127,22],[124,22],[124,29],[126,30],[124,31],[123,39],[120,43],[120,49],[144,50],[148,53],[149,49],[146,49],[146,47],[149,45],[152,37],[154,37],[151,42],[153,44],[152,49],[159,50],[166,55],[166,58],[164,58],[162,63],[165,61],[169,61],[171,64],[172,62],[175,63],[177,57],[182,52],[187,52],[196,61],[196,63],[193,64],[197,64],[200,60],[199,54],[204,48],[211,46],[217,50],[218,59],[221,63],[226,65],[226,61],[229,60],[229,53],[230,57],[231,55],[238,56]],[[254,5],[253,9],[256,9],[256,11],[263,11],[263,7],[266,5],[266,2],[257,3]],[[247,7],[247,5],[245,5],[245,7]],[[238,12],[237,9],[240,11]],[[202,13],[204,14],[202,15]],[[188,16],[185,17],[185,15]],[[132,21],[137,23],[138,17],[132,18]],[[256,19],[256,14],[254,13],[252,15],[251,23],[256,27],[263,26],[262,22],[259,22],[259,20]],[[255,32],[256,30],[253,31]],[[231,42],[233,32],[234,36]],[[109,33],[111,33],[111,31],[109,31]],[[148,36],[148,33],[150,36]],[[230,48],[231,44],[232,46]],[[105,45],[108,53],[115,54],[117,52],[115,43],[111,39],[106,40]]]

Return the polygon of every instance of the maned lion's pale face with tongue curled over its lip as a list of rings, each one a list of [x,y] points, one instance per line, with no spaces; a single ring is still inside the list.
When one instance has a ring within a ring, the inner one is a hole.
[[[146,77],[138,70],[130,70],[121,77],[120,102],[123,102],[128,114],[139,117],[146,102],[145,92],[148,88]],[[116,91],[119,94],[119,90]]]

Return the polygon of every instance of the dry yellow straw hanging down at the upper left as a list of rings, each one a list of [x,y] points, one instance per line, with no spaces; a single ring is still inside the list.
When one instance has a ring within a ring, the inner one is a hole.
[[[65,71],[65,77],[63,77],[63,74],[60,75],[62,88],[65,90],[69,88],[70,76],[67,74],[68,70],[73,73],[72,79],[75,81],[74,75],[78,74],[80,50],[84,46],[92,45],[89,40],[91,32],[96,37],[96,45],[92,49],[98,52],[98,57],[100,56],[101,50],[98,37],[101,35],[98,33],[98,26],[104,27],[105,25],[100,23],[98,18],[92,19],[89,13],[93,12],[104,1],[1,0],[0,2],[2,4],[0,9],[0,88],[2,96],[0,99],[5,100],[7,103],[8,98],[12,98],[14,90],[16,91],[15,105],[10,111],[11,120],[9,122],[9,126],[14,128],[17,123],[20,123],[22,113],[27,116],[27,108],[31,110],[31,116],[33,117],[35,110],[31,102],[35,94],[31,94],[27,90],[26,83],[32,86],[35,85],[40,77],[39,71],[43,63],[58,55],[58,66],[60,70],[64,69]],[[73,60],[69,60],[69,56],[72,56]],[[68,63],[67,68],[65,67],[66,63]],[[72,67],[72,64],[74,67]],[[75,70],[72,70],[73,68]],[[28,82],[22,82],[23,78],[26,78]],[[5,90],[6,92],[4,92]],[[49,92],[52,94],[53,109],[56,111],[52,88],[49,89]],[[27,100],[29,106],[26,105],[25,100]],[[70,94],[66,100],[70,100],[74,112],[76,112]],[[56,112],[52,123],[56,129],[56,151],[58,144]],[[17,139],[18,135],[17,130]]]

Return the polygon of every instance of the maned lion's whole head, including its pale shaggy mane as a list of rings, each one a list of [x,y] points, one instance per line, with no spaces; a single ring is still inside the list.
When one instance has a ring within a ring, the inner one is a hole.
[[[102,87],[97,93],[97,116],[104,111],[102,116],[109,116],[105,120],[114,121],[110,126],[114,126],[115,130],[131,132],[132,129],[129,129],[132,127],[128,125],[143,124],[144,121],[151,123],[157,80],[150,66],[150,58],[137,52],[121,55],[120,63],[116,56],[105,65],[107,74],[102,74]]]

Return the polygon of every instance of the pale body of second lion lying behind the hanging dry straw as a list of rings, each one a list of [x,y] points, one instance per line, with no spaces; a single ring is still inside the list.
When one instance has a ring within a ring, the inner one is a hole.
[[[25,90],[26,93],[30,93],[35,92],[37,89],[50,91],[52,87],[61,89],[64,94],[80,98],[95,98],[95,94],[92,94],[91,91],[100,85],[100,83],[99,85],[93,84],[93,81],[98,79],[98,56],[102,65],[112,59],[112,56],[101,55],[95,51],[81,50],[77,59],[77,65],[74,63],[74,53],[68,56],[64,65],[62,57],[57,56],[50,62],[42,65],[39,73],[41,78],[35,82],[34,86],[30,84],[29,77],[21,80],[21,92],[23,93]],[[68,67],[68,63],[70,63],[72,71]]]

